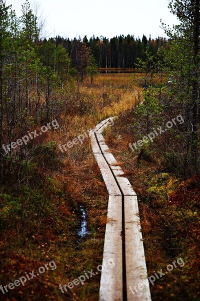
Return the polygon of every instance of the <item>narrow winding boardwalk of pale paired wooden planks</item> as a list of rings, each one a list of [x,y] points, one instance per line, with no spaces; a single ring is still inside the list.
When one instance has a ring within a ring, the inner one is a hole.
[[[102,136],[113,118],[90,131],[92,151],[109,194],[102,265],[110,258],[115,263],[114,268],[101,271],[99,301],[150,301],[137,196]],[[143,281],[147,284],[142,286]],[[129,287],[139,283],[132,293]]]

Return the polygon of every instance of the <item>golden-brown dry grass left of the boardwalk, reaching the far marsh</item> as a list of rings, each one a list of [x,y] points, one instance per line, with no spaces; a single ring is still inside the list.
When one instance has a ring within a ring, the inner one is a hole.
[[[98,299],[100,274],[86,281],[84,286],[69,289],[65,294],[60,292],[58,284],[65,284],[77,278],[84,270],[95,269],[101,264],[107,219],[107,191],[92,154],[89,138],[85,138],[82,144],[79,142],[72,148],[66,148],[64,153],[61,153],[57,146],[66,144],[82,132],[93,128],[104,118],[131,108],[134,97],[129,76],[130,74],[99,74],[92,87],[89,85],[89,79],[86,79],[80,87],[72,87],[70,93],[63,93],[63,103],[66,101],[66,105],[63,106],[63,113],[57,120],[59,129],[46,132],[35,138],[34,145],[24,147],[26,157],[30,158],[31,164],[35,166],[27,167],[29,174],[22,175],[18,182],[25,183],[23,178],[27,178],[32,187],[32,190],[28,191],[33,198],[30,201],[34,203],[35,199],[43,195],[46,207],[42,207],[41,201],[41,205],[34,209],[35,214],[39,212],[43,218],[35,217],[34,220],[31,217],[24,224],[16,215],[16,226],[12,225],[9,230],[2,231],[0,245],[4,261],[1,261],[0,268],[4,272],[0,280],[6,285],[25,271],[36,269],[50,260],[55,261],[57,269],[43,274],[43,277],[24,287],[10,290],[6,296],[7,300]],[[68,108],[70,110],[66,114]],[[37,125],[38,129],[39,126]],[[54,141],[55,145],[49,146],[49,141]],[[17,171],[17,164],[14,168]],[[13,182],[14,185],[9,186],[7,194],[16,193],[15,188],[18,184],[14,178]],[[21,200],[22,205],[23,201],[28,201],[30,197],[29,195],[26,198],[24,186],[17,195],[17,201]],[[3,194],[4,190],[0,193]],[[84,240],[77,241],[80,204],[85,208],[90,234]],[[28,214],[31,216],[32,212]],[[10,216],[10,219],[15,221],[13,216]],[[9,221],[7,222],[9,224]],[[17,237],[17,240],[13,240],[13,237]],[[20,262],[18,265],[20,260],[25,260],[25,263]],[[4,296],[0,296],[0,299],[4,299]]]

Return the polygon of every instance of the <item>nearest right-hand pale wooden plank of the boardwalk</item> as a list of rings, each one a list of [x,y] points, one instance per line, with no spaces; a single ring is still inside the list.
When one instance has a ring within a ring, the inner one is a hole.
[[[150,301],[136,196],[124,196],[124,224],[127,301]]]

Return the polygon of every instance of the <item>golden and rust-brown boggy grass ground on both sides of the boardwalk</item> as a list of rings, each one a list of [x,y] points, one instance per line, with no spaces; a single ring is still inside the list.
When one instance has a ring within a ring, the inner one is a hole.
[[[62,147],[62,151],[58,146],[115,115],[118,118],[114,126],[104,135],[138,196],[148,275],[164,269],[175,258],[182,257],[185,263],[156,280],[151,286],[152,300],[181,300],[182,296],[192,300],[199,296],[197,283],[192,284],[192,277],[197,278],[198,273],[194,258],[199,255],[199,221],[193,208],[197,208],[199,179],[184,182],[164,166],[160,145],[165,144],[166,136],[158,137],[143,153],[131,152],[128,143],[133,137],[139,139],[145,128],[145,118],[139,123],[139,117],[134,115],[145,91],[139,85],[142,74],[134,79],[130,76],[98,74],[92,86],[89,78],[82,84],[68,81],[62,92],[65,105],[57,120],[59,129],[35,138],[33,148],[25,146],[28,161],[20,166],[17,181],[14,175],[19,164],[10,163],[9,186],[2,186],[0,191],[0,248],[4,257],[0,261],[0,281],[6,285],[52,260],[56,269],[49,269],[28,285],[9,290],[8,299],[98,299],[100,273],[64,293],[58,286],[101,264],[107,191],[88,135],[82,143]],[[165,92],[162,93],[164,97]],[[183,193],[179,199],[183,186],[188,195]],[[19,205],[13,210],[16,202]],[[87,221],[88,234],[84,238],[78,236],[81,208]]]

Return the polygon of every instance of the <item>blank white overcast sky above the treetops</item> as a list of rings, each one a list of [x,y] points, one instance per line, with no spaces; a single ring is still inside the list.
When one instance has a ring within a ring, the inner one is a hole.
[[[23,0],[6,0],[17,16]],[[164,37],[160,19],[167,25],[177,24],[169,13],[168,0],[29,0],[37,3],[46,19],[46,37],[87,38],[135,35],[142,38]]]

